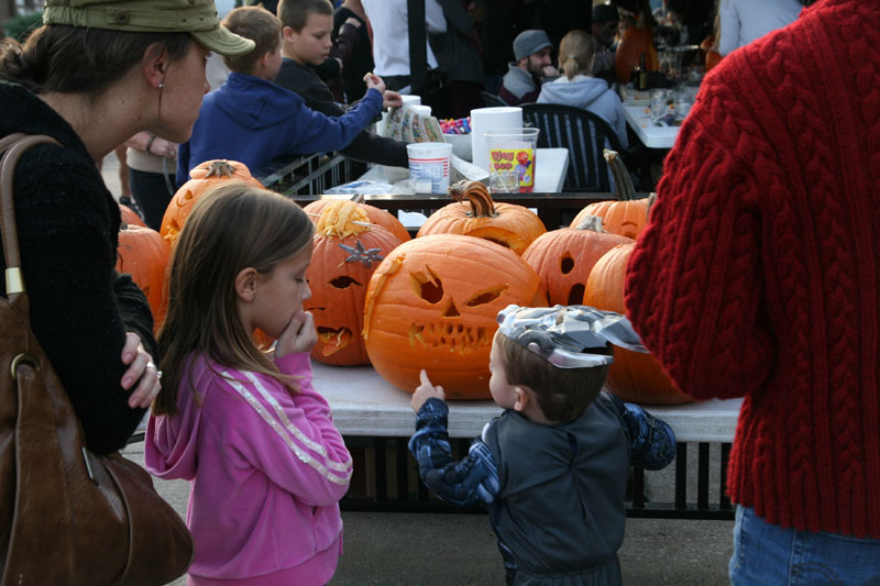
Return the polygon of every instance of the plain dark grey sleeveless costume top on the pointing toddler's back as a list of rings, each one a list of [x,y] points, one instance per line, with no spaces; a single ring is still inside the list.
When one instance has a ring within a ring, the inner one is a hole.
[[[557,425],[505,411],[483,440],[502,486],[490,519],[499,542],[516,552],[515,584],[619,584],[630,440],[613,399],[602,394],[581,417]]]

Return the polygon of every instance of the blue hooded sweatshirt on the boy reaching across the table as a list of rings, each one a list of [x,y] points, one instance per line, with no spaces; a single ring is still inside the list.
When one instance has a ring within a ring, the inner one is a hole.
[[[201,103],[193,136],[177,152],[177,185],[206,161],[244,163],[263,177],[277,157],[310,155],[345,147],[382,110],[382,93],[370,89],[341,117],[309,109],[297,93],[258,77],[232,73]]]

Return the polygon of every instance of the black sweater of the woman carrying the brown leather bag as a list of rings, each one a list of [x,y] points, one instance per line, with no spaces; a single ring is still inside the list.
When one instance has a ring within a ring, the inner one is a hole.
[[[146,298],[116,273],[119,206],[70,125],[21,86],[0,81],[0,136],[48,134],[15,169],[15,220],[31,327],[98,453],[122,447],[143,418],[120,382],[125,332],[157,356]],[[0,258],[3,265],[6,262]],[[6,286],[0,285],[6,295]],[[132,386],[134,388],[134,386]]]

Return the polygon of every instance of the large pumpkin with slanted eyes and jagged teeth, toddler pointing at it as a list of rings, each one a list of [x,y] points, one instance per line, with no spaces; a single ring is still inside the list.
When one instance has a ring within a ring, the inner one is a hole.
[[[400,244],[366,289],[364,341],[376,372],[413,392],[425,368],[450,399],[487,399],[498,311],[546,306],[540,279],[484,239],[431,234]]]

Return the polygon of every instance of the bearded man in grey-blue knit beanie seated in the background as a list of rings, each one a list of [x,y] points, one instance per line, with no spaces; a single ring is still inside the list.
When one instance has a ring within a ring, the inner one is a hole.
[[[559,77],[551,65],[550,51],[553,45],[543,31],[522,31],[514,38],[514,58],[507,65],[498,97],[509,106],[530,103],[538,99],[541,81]]]

